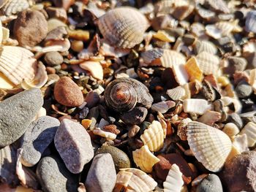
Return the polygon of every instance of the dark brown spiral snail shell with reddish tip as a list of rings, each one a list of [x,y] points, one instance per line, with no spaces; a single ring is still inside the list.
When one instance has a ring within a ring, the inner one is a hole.
[[[105,104],[116,112],[127,112],[136,104],[149,108],[153,102],[148,88],[131,78],[118,78],[110,82],[105,89],[104,98]]]

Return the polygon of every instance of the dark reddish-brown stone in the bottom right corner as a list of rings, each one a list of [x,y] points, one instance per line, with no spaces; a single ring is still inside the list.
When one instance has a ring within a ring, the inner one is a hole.
[[[226,191],[256,191],[256,152],[247,151],[234,156],[220,173]]]

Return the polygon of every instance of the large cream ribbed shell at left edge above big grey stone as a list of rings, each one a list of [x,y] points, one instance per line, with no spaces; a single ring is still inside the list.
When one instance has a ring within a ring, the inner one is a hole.
[[[4,46],[0,48],[0,72],[14,85],[34,78],[37,60],[34,54],[23,47]]]

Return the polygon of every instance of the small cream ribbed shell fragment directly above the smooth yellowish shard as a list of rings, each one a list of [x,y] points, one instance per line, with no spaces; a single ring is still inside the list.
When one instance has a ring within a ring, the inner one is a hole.
[[[154,120],[140,136],[144,145],[151,151],[158,151],[164,145],[164,130],[159,121]]]

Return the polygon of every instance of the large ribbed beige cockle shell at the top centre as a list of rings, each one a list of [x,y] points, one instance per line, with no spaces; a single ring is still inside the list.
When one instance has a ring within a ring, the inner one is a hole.
[[[137,9],[119,7],[112,9],[97,20],[102,36],[111,45],[132,48],[143,41],[148,20]]]

